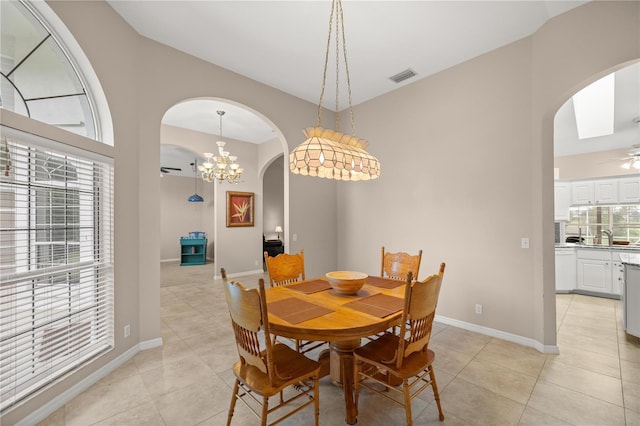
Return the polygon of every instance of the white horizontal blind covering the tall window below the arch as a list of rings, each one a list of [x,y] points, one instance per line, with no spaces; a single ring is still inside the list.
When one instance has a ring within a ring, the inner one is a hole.
[[[113,167],[0,139],[0,409],[114,346]]]

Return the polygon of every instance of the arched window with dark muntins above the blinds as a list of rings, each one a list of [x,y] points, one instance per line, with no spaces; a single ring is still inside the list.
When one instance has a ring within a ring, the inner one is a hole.
[[[100,139],[82,75],[27,3],[0,2],[0,107]]]

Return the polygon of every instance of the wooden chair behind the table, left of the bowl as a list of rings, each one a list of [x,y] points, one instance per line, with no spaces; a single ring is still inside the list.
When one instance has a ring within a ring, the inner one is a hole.
[[[269,256],[269,253],[265,251],[264,261],[267,264],[267,273],[269,274],[271,287],[278,287],[305,280],[304,249],[300,249],[300,253],[280,253],[277,256]],[[307,353],[327,343],[312,340],[291,340],[295,343],[296,350],[300,353]]]

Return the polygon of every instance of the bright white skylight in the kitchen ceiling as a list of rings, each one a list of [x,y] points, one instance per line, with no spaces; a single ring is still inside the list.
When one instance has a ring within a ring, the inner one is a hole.
[[[609,74],[573,95],[578,139],[613,134],[614,77]]]

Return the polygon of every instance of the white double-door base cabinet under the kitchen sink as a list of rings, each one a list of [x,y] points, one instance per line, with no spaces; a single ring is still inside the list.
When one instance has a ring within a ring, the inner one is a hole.
[[[578,290],[612,293],[609,250],[578,250],[577,269]]]

